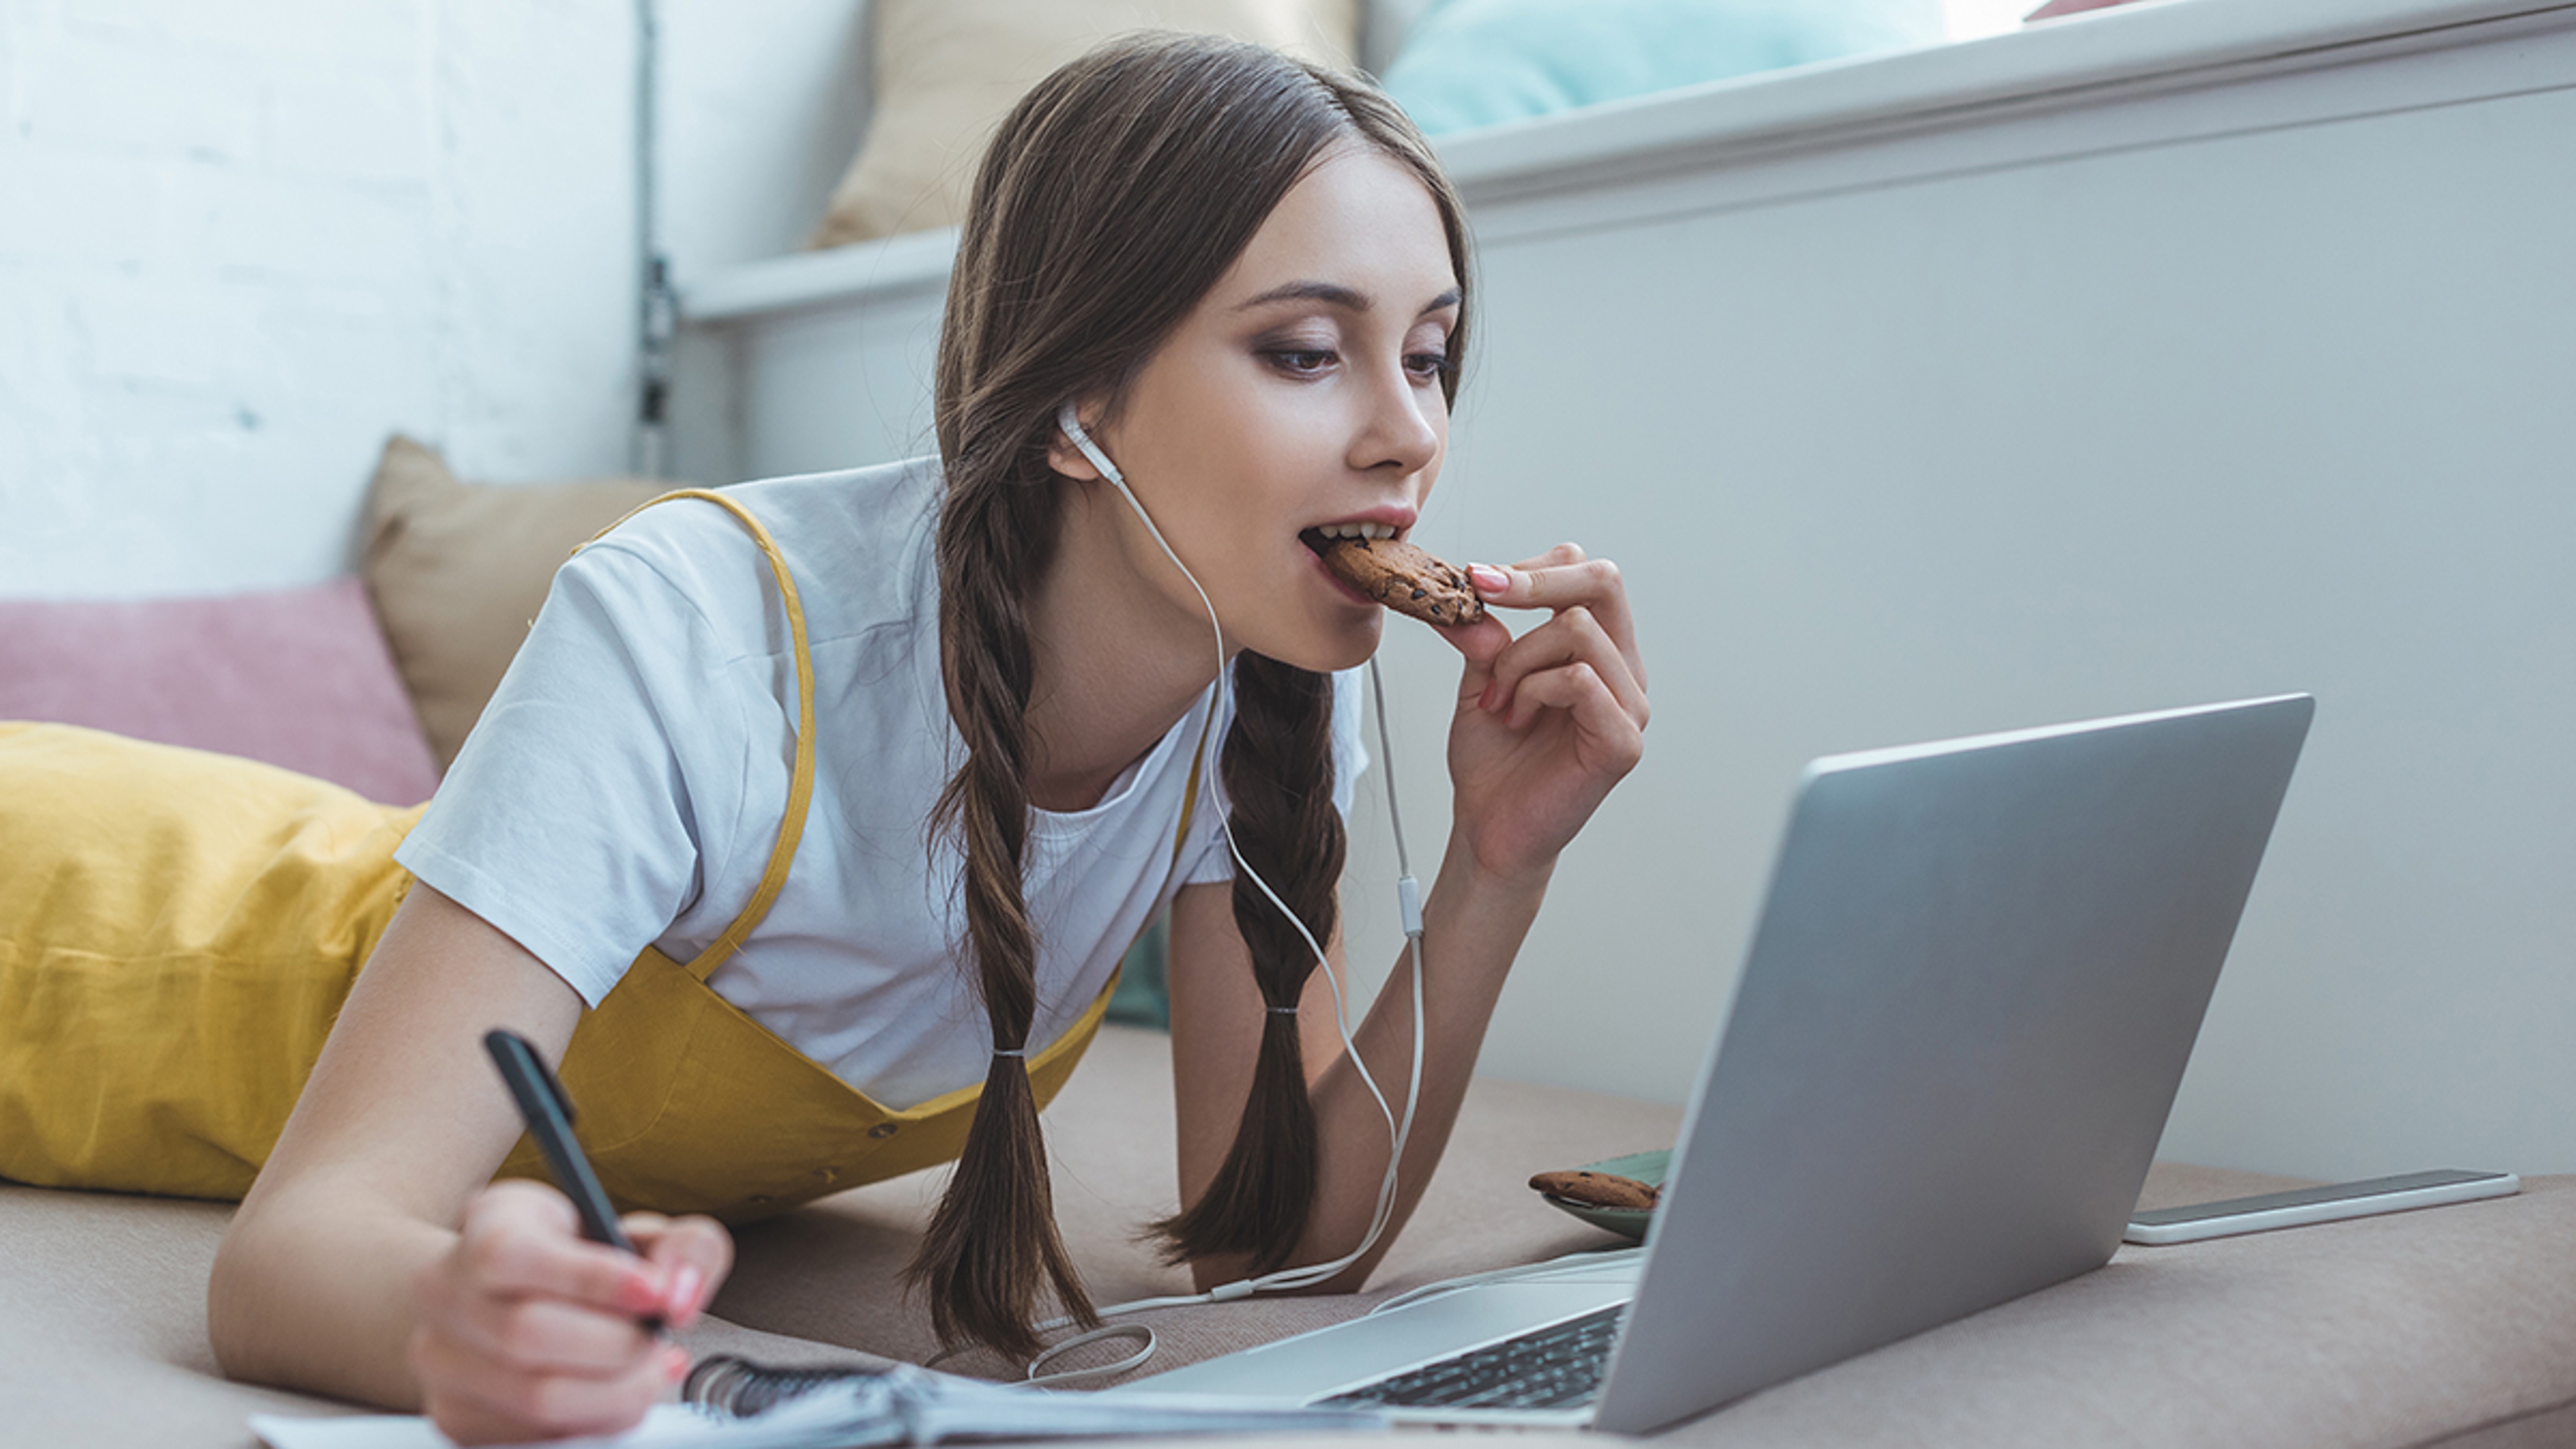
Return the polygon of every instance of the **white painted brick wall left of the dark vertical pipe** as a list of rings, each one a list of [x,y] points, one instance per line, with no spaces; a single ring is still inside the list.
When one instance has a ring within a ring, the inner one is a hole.
[[[623,467],[631,126],[629,0],[0,0],[0,596],[343,572],[397,428]]]

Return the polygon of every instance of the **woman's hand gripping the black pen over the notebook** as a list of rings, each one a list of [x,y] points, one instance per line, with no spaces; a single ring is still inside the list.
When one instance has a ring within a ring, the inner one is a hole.
[[[538,1183],[474,1194],[456,1245],[412,1279],[412,1372],[422,1413],[459,1444],[518,1444],[634,1428],[688,1351],[644,1328],[688,1328],[734,1261],[706,1217],[636,1212],[641,1258],[580,1235],[572,1201]]]

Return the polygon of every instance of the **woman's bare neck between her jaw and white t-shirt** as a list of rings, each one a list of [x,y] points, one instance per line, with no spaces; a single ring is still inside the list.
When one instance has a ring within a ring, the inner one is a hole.
[[[1069,812],[1172,732],[1216,681],[1218,642],[1139,572],[1108,487],[1061,485],[1056,557],[1028,601],[1028,802]]]

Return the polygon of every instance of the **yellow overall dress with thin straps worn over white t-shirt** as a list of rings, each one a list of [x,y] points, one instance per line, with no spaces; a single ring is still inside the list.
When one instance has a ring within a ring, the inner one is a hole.
[[[732,511],[770,559],[796,642],[796,768],[742,915],[685,964],[636,957],[562,1078],[618,1207],[744,1222],[953,1160],[979,1088],[896,1111],[708,990],[804,835],[814,663],[768,529],[716,492],[667,498]],[[1190,776],[1195,804],[1195,761]],[[0,724],[0,1178],[240,1199],[410,887],[394,846],[420,810],[229,755]],[[1108,995],[1030,1052],[1041,1106]],[[533,1142],[500,1176],[541,1178]]]

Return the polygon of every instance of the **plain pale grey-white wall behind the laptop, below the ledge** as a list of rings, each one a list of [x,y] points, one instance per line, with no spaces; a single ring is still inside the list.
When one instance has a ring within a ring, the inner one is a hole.
[[[1687,1091],[1811,755],[2306,688],[2164,1152],[2576,1168],[2576,26],[2391,28],[1633,186],[1468,178],[1484,340],[1425,544],[1620,559],[1656,694],[1497,1070]],[[1422,859],[1455,660],[1383,660]],[[1368,792],[1368,964],[1383,841]]]

